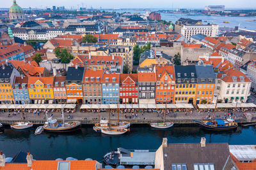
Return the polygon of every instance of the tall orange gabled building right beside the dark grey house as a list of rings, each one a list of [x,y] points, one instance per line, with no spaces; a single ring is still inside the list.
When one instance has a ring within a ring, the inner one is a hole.
[[[174,66],[155,66],[154,72],[156,73],[156,103],[174,103]]]

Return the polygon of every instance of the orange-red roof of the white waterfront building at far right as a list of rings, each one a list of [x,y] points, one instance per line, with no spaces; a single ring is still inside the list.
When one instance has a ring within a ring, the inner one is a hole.
[[[221,75],[223,75],[223,78],[221,79],[225,82],[250,82],[245,74],[243,74],[241,71],[237,70],[234,67],[227,69]]]

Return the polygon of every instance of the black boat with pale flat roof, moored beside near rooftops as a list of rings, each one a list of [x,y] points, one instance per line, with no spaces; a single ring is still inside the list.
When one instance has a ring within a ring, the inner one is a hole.
[[[133,167],[133,166],[152,166],[154,167],[156,152],[150,150],[125,150],[124,148],[117,148],[112,152],[104,155],[104,163],[112,166],[124,166],[124,167]]]

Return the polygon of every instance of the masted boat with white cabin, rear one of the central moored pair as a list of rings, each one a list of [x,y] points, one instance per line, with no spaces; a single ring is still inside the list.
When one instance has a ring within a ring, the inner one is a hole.
[[[118,104],[118,120],[117,120],[117,122],[112,121],[114,123],[111,124],[111,127],[113,129],[129,128],[131,123],[130,122],[120,122],[119,121],[119,113],[120,113],[120,108],[119,108],[119,104]],[[110,124],[109,120],[101,120],[100,115],[99,115],[99,120],[100,121],[97,124],[94,125],[94,127],[93,127],[94,130],[99,131],[99,129],[108,129],[109,128],[109,124]]]

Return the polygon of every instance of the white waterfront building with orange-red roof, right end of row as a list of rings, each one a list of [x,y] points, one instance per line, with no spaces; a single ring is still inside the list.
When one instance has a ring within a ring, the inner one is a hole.
[[[219,73],[216,80],[218,99],[225,103],[246,103],[250,96],[251,84],[249,78],[234,67],[224,71],[224,73]]]

